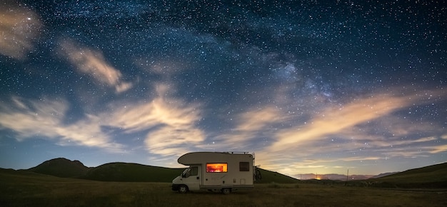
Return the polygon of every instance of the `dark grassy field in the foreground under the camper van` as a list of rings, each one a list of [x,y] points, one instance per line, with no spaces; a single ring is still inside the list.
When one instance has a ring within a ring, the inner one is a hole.
[[[101,182],[1,171],[0,206],[447,206],[447,192],[262,183],[230,195],[180,194],[171,191],[170,183]]]

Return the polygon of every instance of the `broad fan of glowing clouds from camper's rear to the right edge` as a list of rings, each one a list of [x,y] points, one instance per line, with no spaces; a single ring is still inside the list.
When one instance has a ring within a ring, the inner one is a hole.
[[[368,163],[397,157],[423,157],[445,151],[445,146],[436,144],[436,140],[443,137],[442,126],[434,126],[433,123],[415,126],[396,112],[408,106],[443,100],[446,92],[403,92],[388,91],[387,94],[357,98],[348,104],[328,106],[313,114],[287,114],[289,117],[286,119],[293,120],[302,116],[303,124],[273,131],[270,144],[258,151],[256,159],[266,168],[288,168],[292,172],[300,171],[301,166],[334,166],[340,163],[349,166],[349,163],[358,161]],[[281,113],[277,115],[281,116]],[[377,128],[385,131],[377,131]],[[306,163],[307,157],[321,159],[309,164]],[[278,166],[281,163],[290,165]]]

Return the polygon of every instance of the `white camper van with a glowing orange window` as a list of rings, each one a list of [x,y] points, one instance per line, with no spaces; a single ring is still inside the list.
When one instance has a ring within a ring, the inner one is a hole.
[[[258,173],[251,153],[192,152],[178,161],[189,166],[172,181],[172,190],[180,193],[209,190],[228,194],[239,188],[253,188]]]

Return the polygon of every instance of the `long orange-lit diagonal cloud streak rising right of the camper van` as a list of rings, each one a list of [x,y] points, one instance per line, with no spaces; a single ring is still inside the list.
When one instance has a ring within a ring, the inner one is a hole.
[[[271,151],[281,151],[308,141],[319,140],[329,134],[344,133],[343,131],[347,128],[387,116],[420,101],[421,99],[415,95],[378,95],[355,100],[343,107],[329,107],[303,126],[286,128],[276,133],[276,142],[270,149]]]

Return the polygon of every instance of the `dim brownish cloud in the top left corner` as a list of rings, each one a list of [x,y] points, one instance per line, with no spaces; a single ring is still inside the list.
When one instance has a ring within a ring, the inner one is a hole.
[[[24,59],[34,48],[41,29],[39,16],[30,9],[3,4],[0,8],[0,54]]]

